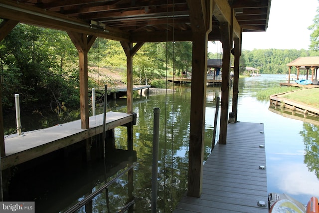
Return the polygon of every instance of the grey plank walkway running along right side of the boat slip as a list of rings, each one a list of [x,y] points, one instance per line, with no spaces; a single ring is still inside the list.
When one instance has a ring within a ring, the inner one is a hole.
[[[201,197],[185,195],[174,213],[268,213],[263,132],[259,123],[229,124],[227,144],[217,144],[204,164]]]

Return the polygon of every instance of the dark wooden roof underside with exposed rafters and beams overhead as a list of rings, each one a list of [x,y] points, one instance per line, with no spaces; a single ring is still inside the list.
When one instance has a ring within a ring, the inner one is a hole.
[[[196,3],[194,3],[196,2]],[[0,18],[64,31],[140,42],[191,40],[190,12],[205,11],[209,0],[0,0]],[[220,22],[240,30],[266,31],[271,0],[213,0],[209,40],[221,40]],[[205,4],[206,3],[206,4]],[[196,7],[198,4],[198,8]],[[90,28],[91,27],[91,28]],[[236,28],[237,27],[237,28]],[[82,29],[83,28],[83,29]],[[170,36],[170,37],[171,37]]]

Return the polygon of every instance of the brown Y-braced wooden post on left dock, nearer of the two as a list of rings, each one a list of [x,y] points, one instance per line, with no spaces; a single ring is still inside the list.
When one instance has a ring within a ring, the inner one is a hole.
[[[88,51],[97,37],[76,32],[68,35],[79,53],[81,128],[89,129]]]

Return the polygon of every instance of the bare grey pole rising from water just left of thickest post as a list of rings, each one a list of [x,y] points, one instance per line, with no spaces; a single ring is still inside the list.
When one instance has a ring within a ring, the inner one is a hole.
[[[159,131],[160,131],[160,108],[154,108],[152,200],[151,200],[152,213],[156,213],[157,212],[158,164],[159,164]]]

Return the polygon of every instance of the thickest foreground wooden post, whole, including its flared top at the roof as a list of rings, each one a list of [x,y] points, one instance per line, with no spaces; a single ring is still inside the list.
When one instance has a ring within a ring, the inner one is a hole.
[[[207,42],[212,27],[213,4],[211,0],[186,2],[193,33],[187,195],[200,197],[203,182]]]

